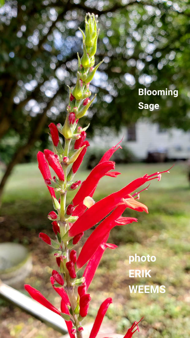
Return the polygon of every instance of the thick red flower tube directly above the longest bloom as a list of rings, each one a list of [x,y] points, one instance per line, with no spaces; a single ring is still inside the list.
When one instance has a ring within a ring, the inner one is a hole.
[[[115,168],[115,162],[106,161],[98,164],[92,169],[88,177],[83,182],[79,191],[73,198],[73,205],[76,206],[84,200],[86,196],[92,192],[93,189],[96,189],[100,179],[110,170]]]

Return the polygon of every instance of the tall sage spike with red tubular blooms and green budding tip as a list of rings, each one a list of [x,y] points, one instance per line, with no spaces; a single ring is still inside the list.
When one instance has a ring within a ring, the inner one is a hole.
[[[136,218],[122,216],[127,208],[148,213],[147,207],[138,201],[139,193],[142,190],[138,193],[134,191],[152,179],[160,180],[161,178],[159,172],[152,175],[146,174],[133,180],[123,189],[95,202],[93,194],[101,178],[105,175],[114,178],[120,174],[114,171],[115,163],[110,161],[113,153],[121,148],[117,144],[106,151],[82,184],[80,180],[74,180],[89,146],[85,131],[87,127],[78,126],[78,122],[94,100],[94,98],[89,99],[91,95],[89,83],[101,64],[99,63],[93,68],[99,35],[97,18],[93,14],[88,14],[88,20],[86,17],[85,23],[85,34],[82,32],[83,56],[80,59],[78,55],[77,81],[75,87],[69,89],[69,105],[67,106],[64,125],[58,123],[56,126],[54,123],[50,123],[49,128],[54,151],[45,149],[44,152],[39,151],[37,154],[39,169],[53,201],[54,211],[50,211],[48,218],[52,221],[55,239],[44,233],[40,233],[39,237],[55,249],[54,256],[58,271],[52,271],[50,282],[61,297],[61,310],[56,309],[39,291],[30,285],[25,285],[25,289],[32,298],[64,318],[71,338],[74,338],[75,334],[77,337],[82,337],[82,320],[88,313],[91,300],[88,288],[104,251],[106,248],[115,249],[117,247],[114,244],[107,243],[111,229],[115,226],[137,222]],[[64,148],[60,142],[59,133],[64,137]],[[71,144],[72,140],[74,140],[73,144]],[[53,178],[49,166],[56,174]],[[80,188],[72,202],[66,206],[67,191],[75,190],[79,186]],[[56,197],[56,194],[59,194],[59,198]],[[98,226],[93,230],[79,255],[77,255],[74,249],[75,245],[81,240],[84,232],[97,223],[99,223]],[[78,277],[78,271],[86,263],[83,276]],[[97,336],[111,303],[112,299],[107,298],[101,304],[89,338]],[[133,331],[135,327],[138,330],[137,322],[127,331],[125,338],[132,337],[136,331]]]

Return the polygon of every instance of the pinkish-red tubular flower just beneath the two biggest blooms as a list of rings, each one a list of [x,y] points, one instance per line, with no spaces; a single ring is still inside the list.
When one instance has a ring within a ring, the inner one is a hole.
[[[96,250],[96,252],[93,254],[93,256],[90,258],[88,264],[86,265],[86,268],[83,273],[83,277],[85,278],[86,283],[86,291],[88,290],[88,287],[93,279],[93,276],[100,264],[101,258],[104,254],[104,251],[106,248],[115,249],[117,245],[106,243],[109,237],[109,233],[104,238],[103,243],[99,246],[99,248]]]

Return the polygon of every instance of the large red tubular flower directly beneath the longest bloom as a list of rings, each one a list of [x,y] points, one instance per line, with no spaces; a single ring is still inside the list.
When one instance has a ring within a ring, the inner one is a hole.
[[[91,233],[86,242],[84,243],[82,250],[77,260],[77,267],[81,268],[98,249],[99,245],[103,242],[105,236],[111,231],[111,229],[119,225],[115,222],[118,217],[124,212],[126,206],[117,207],[108,217],[106,217],[97,228]],[[136,218],[125,217],[125,224],[137,222]],[[123,223],[124,224],[124,223]]]

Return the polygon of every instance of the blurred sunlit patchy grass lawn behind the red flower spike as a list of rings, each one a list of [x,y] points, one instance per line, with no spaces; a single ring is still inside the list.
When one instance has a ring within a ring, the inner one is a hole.
[[[170,163],[117,165],[117,178],[104,177],[94,194],[97,201],[145,173],[166,170]],[[77,178],[84,180],[88,171],[80,171]],[[72,195],[70,194],[70,199]],[[70,200],[68,200],[69,203]],[[184,162],[176,163],[170,174],[160,182],[151,181],[148,191],[140,194],[140,202],[147,205],[149,214],[126,212],[138,218],[138,223],[116,227],[109,241],[118,245],[107,249],[90,288],[92,301],[90,319],[98,306],[111,296],[105,321],[112,323],[117,333],[124,333],[134,320],[142,316],[140,334],[148,338],[188,338],[190,336],[190,187]],[[33,255],[33,271],[25,282],[48,296],[56,306],[58,297],[52,291],[49,277],[56,268],[51,248],[39,241],[37,234],[52,235],[47,220],[52,210],[50,195],[38,172],[37,164],[18,165],[6,186],[1,208],[2,241],[17,241],[29,247]],[[129,265],[129,256],[156,256],[155,262],[136,262]],[[129,269],[151,269],[150,277],[129,278]],[[129,285],[164,285],[165,293],[131,293]],[[93,289],[96,288],[96,292]],[[98,291],[98,292],[97,292]],[[1,301],[2,329],[7,336],[22,338],[36,329],[31,338],[60,337],[46,329],[45,324]],[[12,318],[9,318],[12,316]],[[9,335],[8,335],[9,334]],[[1,335],[0,335],[1,336]]]

